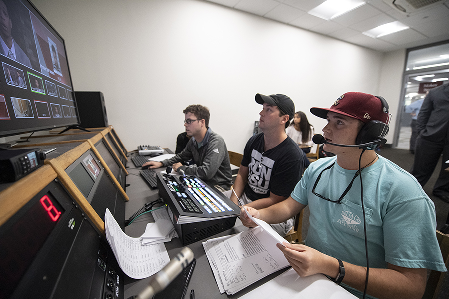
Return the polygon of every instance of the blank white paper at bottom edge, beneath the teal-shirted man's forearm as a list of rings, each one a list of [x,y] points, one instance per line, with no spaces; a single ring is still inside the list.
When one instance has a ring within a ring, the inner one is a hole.
[[[357,299],[322,274],[301,277],[293,268],[285,271],[239,299]]]

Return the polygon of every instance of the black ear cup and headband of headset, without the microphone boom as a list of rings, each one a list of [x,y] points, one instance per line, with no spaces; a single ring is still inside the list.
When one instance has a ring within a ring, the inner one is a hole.
[[[381,96],[375,96],[375,97],[381,101],[382,111],[384,113],[388,113],[387,101]],[[386,142],[384,137],[385,137],[385,135],[387,135],[388,130],[389,130],[389,127],[384,122],[369,121],[368,123],[363,125],[362,129],[360,129],[360,132],[356,138],[356,144],[365,144],[365,143],[370,143],[370,142],[379,140],[378,143],[376,142],[373,145],[362,147],[362,148],[368,149],[368,150],[376,149],[376,147],[378,145],[384,144]]]

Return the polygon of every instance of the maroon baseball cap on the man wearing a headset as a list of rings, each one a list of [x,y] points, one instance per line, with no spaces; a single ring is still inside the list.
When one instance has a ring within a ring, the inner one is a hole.
[[[388,110],[388,107],[386,108]],[[381,100],[362,92],[347,92],[340,96],[330,108],[310,108],[310,112],[320,118],[327,118],[329,111],[361,120],[387,123],[388,113]]]

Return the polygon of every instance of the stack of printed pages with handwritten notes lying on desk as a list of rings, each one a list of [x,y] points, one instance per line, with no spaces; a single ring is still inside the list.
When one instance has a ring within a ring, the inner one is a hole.
[[[234,294],[255,281],[289,266],[276,243],[261,227],[204,242],[203,247],[220,292]]]

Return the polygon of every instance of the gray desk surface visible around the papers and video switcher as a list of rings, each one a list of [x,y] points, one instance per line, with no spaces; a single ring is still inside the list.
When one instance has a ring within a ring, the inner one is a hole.
[[[128,165],[129,168],[127,168],[127,170],[129,172],[129,175],[127,176],[126,183],[130,185],[125,190],[129,196],[129,201],[126,202],[125,207],[125,219],[128,219],[135,211],[140,209],[145,203],[154,201],[159,198],[157,189],[151,189],[147,185],[147,183],[143,180],[143,178],[140,177],[139,170],[141,169],[140,168],[136,169],[132,162],[129,162]],[[156,171],[158,170],[162,171],[163,169],[162,168],[156,169]],[[127,226],[125,228],[125,233],[131,237],[140,237],[145,231],[146,224],[149,222],[154,222],[151,213],[145,214],[137,218],[135,221],[133,221],[133,223],[130,226]],[[240,219],[237,219],[235,226],[233,228],[221,232],[217,235],[214,235],[211,238],[239,233],[245,229],[246,228],[242,225]],[[204,242],[205,240],[200,240],[190,245],[187,245],[193,251],[195,258],[197,259],[197,263],[193,271],[192,278],[189,282],[185,298],[189,298],[191,289],[195,290],[195,297],[199,299],[239,298],[244,294],[248,293],[249,291],[257,288],[258,286],[278,276],[280,273],[289,269],[287,268],[279,270],[278,272],[273,273],[259,280],[258,282],[246,287],[237,294],[234,295],[227,295],[226,293],[220,294],[220,291],[214,278],[214,274],[212,273],[209,261],[203,249],[202,242]],[[171,242],[165,243],[165,246],[171,259],[179,253],[182,247],[184,247],[179,238],[175,238]],[[124,298],[128,298],[132,295],[137,295],[148,285],[149,280],[150,278],[136,280],[129,277],[125,277]]]

